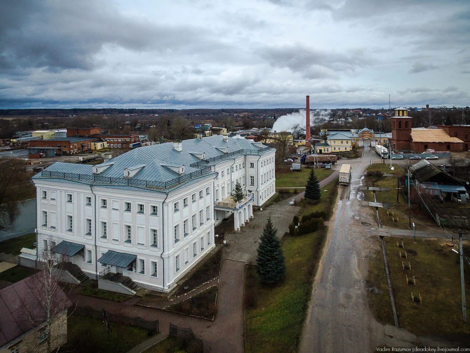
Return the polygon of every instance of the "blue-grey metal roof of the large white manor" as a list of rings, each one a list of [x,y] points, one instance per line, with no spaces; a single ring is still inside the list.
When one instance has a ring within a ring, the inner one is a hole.
[[[175,188],[189,180],[207,177],[215,172],[210,166],[234,155],[263,154],[273,149],[249,140],[224,140],[224,136],[208,136],[202,139],[182,141],[182,150],[173,149],[173,143],[161,143],[132,149],[111,159],[113,165],[99,174],[93,174],[92,165],[57,162],[47,167],[34,179],[68,179],[88,184],[113,184],[118,188],[137,186],[143,188]],[[220,148],[220,149],[219,149]],[[226,149],[227,153],[223,150]],[[191,153],[193,152],[193,153]],[[204,161],[194,155],[205,153]],[[106,162],[109,163],[109,162]],[[133,178],[124,179],[124,169],[144,165]],[[180,175],[168,165],[184,165],[185,173]],[[73,174],[73,175],[72,175]]]

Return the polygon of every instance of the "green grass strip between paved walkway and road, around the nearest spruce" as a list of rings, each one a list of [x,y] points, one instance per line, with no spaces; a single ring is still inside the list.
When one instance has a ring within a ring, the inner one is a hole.
[[[336,194],[337,183],[329,184],[329,195]],[[331,204],[323,197],[308,212]],[[245,271],[245,348],[246,352],[295,352],[312,289],[311,280],[321,258],[326,232],[282,238],[286,261],[284,280],[275,286],[258,281],[255,266]]]

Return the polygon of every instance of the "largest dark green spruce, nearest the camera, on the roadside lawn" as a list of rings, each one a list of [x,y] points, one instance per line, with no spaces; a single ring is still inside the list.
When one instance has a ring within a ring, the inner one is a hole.
[[[286,265],[281,241],[277,237],[277,229],[273,227],[271,217],[268,218],[259,240],[256,258],[259,279],[264,283],[277,282],[284,277]]]

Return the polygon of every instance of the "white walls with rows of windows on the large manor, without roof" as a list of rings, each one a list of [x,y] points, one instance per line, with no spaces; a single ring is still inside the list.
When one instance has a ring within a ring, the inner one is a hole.
[[[250,190],[253,202],[235,210],[235,228],[252,217],[252,204],[274,195],[274,153],[222,159],[213,164],[217,173],[169,192],[35,177],[38,254],[64,240],[84,245],[66,260],[91,278],[107,267],[97,261],[107,251],[136,255],[131,267],[110,272],[144,288],[170,291],[214,248],[214,226],[234,212],[215,210],[214,202],[229,197],[236,181]]]

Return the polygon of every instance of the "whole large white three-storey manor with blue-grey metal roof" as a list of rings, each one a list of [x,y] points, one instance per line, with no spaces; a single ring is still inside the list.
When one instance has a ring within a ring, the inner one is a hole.
[[[84,273],[107,290],[168,292],[214,248],[214,226],[233,213],[238,230],[253,205],[274,195],[274,154],[217,135],[133,149],[100,165],[57,162],[32,178],[38,257],[51,249],[72,281]],[[230,198],[236,181],[246,195],[239,203]]]

